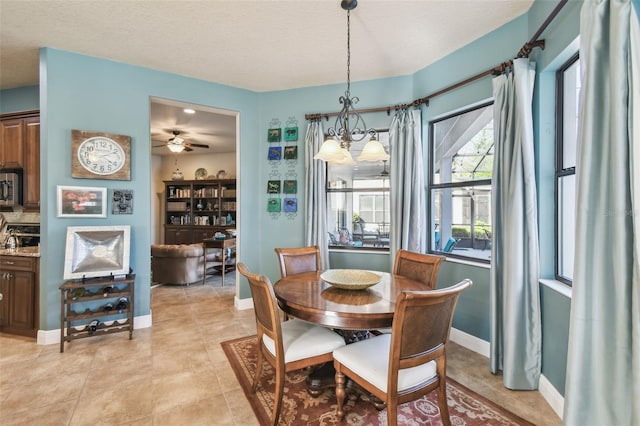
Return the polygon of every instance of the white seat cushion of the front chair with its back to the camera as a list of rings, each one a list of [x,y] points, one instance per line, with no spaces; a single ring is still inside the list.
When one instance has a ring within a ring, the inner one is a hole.
[[[391,335],[381,334],[333,351],[333,359],[378,389],[387,392]],[[398,372],[398,390],[423,383],[436,375],[436,362],[430,361]]]

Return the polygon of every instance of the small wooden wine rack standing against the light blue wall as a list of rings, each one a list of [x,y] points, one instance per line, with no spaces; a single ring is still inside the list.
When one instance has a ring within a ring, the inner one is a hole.
[[[135,274],[66,281],[60,286],[60,352],[65,342],[129,332],[133,338]]]

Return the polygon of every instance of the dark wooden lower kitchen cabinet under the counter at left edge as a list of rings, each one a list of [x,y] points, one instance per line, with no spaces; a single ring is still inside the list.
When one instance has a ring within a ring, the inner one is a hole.
[[[36,337],[38,268],[37,258],[0,256],[0,332]]]

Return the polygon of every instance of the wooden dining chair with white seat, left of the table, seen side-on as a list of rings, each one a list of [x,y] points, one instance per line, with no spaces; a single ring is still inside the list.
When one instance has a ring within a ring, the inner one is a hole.
[[[344,346],[342,337],[328,328],[306,321],[282,322],[269,278],[254,274],[240,262],[238,271],[249,281],[256,316],[258,360],[251,390],[255,393],[266,360],[275,370],[275,396],[271,424],[276,425],[282,408],[285,374],[332,360],[333,350]]]

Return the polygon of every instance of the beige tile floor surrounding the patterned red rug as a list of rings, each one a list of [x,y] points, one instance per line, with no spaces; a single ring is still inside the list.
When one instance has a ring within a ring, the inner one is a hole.
[[[153,327],[59,345],[0,334],[0,424],[255,425],[220,342],[255,333],[227,285],[151,290]],[[538,425],[560,419],[538,392],[514,392],[488,360],[452,345],[450,376]]]

